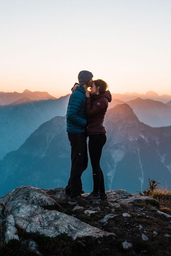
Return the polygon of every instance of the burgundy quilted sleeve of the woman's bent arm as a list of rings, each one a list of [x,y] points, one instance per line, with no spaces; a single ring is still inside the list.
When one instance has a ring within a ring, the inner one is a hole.
[[[86,114],[89,118],[95,117],[101,111],[107,109],[108,100],[105,97],[92,101],[91,98],[86,98]]]

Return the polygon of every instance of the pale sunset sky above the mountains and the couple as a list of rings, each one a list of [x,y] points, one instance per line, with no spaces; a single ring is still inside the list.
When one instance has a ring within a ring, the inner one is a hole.
[[[71,92],[80,70],[113,93],[171,95],[170,0],[0,0],[0,91]]]

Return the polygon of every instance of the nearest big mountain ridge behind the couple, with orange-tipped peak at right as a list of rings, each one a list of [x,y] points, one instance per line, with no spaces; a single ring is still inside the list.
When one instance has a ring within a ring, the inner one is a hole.
[[[148,178],[171,185],[171,126],[154,128],[140,122],[127,104],[109,109],[105,117],[107,142],[101,167],[106,190],[142,191]],[[22,146],[0,162],[0,195],[23,185],[63,187],[70,173],[70,143],[66,118],[40,125]],[[92,190],[92,170],[83,173],[83,188]]]

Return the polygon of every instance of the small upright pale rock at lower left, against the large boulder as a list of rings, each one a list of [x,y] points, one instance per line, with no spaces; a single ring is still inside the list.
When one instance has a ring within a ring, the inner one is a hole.
[[[11,239],[19,240],[17,229],[15,227],[15,220],[12,214],[6,218],[5,242],[8,243]]]

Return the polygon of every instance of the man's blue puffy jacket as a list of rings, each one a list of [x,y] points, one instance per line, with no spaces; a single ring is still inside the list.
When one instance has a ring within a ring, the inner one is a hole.
[[[77,87],[69,99],[66,113],[66,131],[68,133],[85,133],[86,91],[83,86]]]

